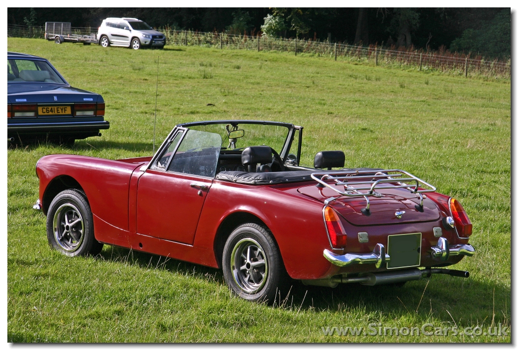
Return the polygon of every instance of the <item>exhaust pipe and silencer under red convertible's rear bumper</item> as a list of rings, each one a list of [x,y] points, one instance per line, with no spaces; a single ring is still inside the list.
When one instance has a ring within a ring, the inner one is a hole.
[[[334,276],[330,279],[322,280],[303,280],[302,283],[305,285],[314,286],[326,286],[336,287],[338,283],[359,283],[367,286],[375,286],[380,284],[407,282],[407,281],[418,281],[423,277],[430,278],[432,274],[441,273],[449,274],[454,277],[468,278],[468,271],[449,270],[449,269],[431,269],[425,268],[420,270],[418,268],[390,271],[390,272],[379,272],[379,273],[367,273],[363,276],[344,277],[343,275]]]

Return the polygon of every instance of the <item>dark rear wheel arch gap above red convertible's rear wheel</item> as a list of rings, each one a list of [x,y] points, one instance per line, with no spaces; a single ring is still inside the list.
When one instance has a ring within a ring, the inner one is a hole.
[[[254,214],[238,211],[226,216],[218,227],[216,236],[214,237],[214,255],[220,269],[222,268],[223,249],[228,237],[237,227],[248,223],[261,225],[271,232],[271,229],[268,227],[268,225],[266,225],[265,222],[261,220],[261,218]],[[274,238],[277,246],[279,246],[273,232],[271,232],[271,235]]]

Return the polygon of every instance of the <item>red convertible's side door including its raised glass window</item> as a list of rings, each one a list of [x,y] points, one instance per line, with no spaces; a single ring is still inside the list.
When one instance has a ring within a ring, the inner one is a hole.
[[[139,179],[137,233],[193,244],[215,176],[221,136],[179,128]]]

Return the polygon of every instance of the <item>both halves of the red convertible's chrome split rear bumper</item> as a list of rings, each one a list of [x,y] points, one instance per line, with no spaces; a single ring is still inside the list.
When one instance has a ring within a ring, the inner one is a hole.
[[[475,254],[475,249],[470,244],[455,244],[449,246],[448,240],[444,237],[439,238],[437,245],[431,247],[430,251],[432,258],[439,258],[441,261],[448,260],[450,256],[473,256],[473,254]],[[376,244],[372,253],[348,253],[338,255],[324,249],[324,257],[329,260],[330,263],[340,267],[355,264],[375,264],[376,268],[379,269],[383,264],[390,261],[390,256],[385,253],[385,246],[381,243]]]

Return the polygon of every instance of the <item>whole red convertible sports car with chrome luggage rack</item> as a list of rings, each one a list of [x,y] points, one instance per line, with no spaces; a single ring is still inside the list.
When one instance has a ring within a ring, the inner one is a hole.
[[[474,254],[458,200],[397,169],[344,168],[341,151],[299,165],[303,127],[268,121],[177,125],[152,157],[55,154],[36,164],[49,244],[103,244],[222,268],[248,300],[286,281],[402,284]],[[333,169],[335,168],[335,169]]]

